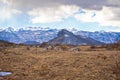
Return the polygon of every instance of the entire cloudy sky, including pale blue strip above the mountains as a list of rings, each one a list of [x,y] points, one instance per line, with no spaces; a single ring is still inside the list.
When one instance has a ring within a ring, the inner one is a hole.
[[[0,0],[0,28],[120,32],[120,0]]]

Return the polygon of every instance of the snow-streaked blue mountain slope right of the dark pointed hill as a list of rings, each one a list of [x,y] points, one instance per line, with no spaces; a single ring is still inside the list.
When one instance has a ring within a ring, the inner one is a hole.
[[[103,32],[103,31],[96,31],[96,32],[87,32],[87,31],[78,31],[75,33],[76,35],[82,35],[85,37],[90,37],[100,42],[104,43],[114,43],[118,39],[120,39],[120,32]]]

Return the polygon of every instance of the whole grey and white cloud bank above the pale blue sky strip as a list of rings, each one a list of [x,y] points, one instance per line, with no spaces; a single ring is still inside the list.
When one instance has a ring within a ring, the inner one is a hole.
[[[120,27],[120,0],[0,0],[0,10],[0,23],[25,14],[32,24],[72,17],[80,22]]]

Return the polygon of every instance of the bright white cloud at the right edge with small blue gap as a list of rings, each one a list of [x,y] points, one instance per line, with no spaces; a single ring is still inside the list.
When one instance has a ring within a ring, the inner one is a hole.
[[[103,7],[102,10],[84,10],[74,17],[83,22],[98,22],[102,26],[120,26],[120,8]]]

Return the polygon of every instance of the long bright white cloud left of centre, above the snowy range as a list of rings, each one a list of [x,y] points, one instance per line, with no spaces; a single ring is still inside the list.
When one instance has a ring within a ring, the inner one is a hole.
[[[73,16],[79,11],[75,5],[61,5],[57,7],[36,8],[28,12],[32,17],[32,23],[50,23],[62,21],[64,18]]]

